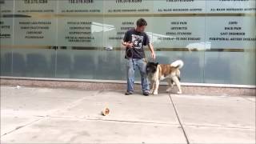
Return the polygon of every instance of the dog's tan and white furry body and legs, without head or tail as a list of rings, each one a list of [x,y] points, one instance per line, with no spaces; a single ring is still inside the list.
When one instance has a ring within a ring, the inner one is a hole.
[[[169,88],[166,91],[170,91],[170,89],[173,87],[171,81],[174,81],[174,83],[178,86],[178,94],[182,94],[178,77],[180,77],[180,70],[178,70],[178,68],[170,66],[170,64],[159,64],[156,72],[149,77],[151,83],[150,94],[158,94],[159,83],[164,79],[166,79],[169,84]]]

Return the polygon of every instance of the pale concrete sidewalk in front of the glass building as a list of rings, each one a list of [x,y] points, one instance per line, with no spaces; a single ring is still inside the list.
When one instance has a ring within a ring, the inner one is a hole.
[[[255,143],[255,96],[1,86],[1,143],[64,142]]]

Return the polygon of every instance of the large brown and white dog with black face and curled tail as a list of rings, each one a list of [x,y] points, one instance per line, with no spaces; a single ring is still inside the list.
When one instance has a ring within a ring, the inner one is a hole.
[[[177,60],[171,64],[158,64],[158,62],[147,62],[146,73],[150,79],[150,94],[158,94],[158,86],[160,81],[166,79],[169,88],[166,90],[170,92],[174,84],[178,86],[177,94],[182,94],[182,88],[180,84],[180,69],[184,63],[182,60]]]

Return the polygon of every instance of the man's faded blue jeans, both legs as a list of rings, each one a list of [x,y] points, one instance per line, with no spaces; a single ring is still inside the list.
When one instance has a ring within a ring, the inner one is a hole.
[[[129,58],[127,59],[127,91],[134,91],[134,72],[138,67],[142,78],[142,91],[150,90],[149,81],[146,75],[146,61],[144,58]]]

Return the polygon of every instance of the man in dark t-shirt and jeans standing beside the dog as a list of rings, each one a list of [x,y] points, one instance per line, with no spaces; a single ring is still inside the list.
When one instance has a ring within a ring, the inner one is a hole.
[[[138,67],[142,77],[142,94],[148,96],[150,92],[149,81],[146,75],[146,59],[143,46],[149,46],[151,58],[155,59],[154,48],[148,35],[144,32],[147,23],[143,18],[138,19],[134,29],[126,31],[122,45],[126,46],[127,59],[127,91],[126,95],[134,93],[134,70]]]

